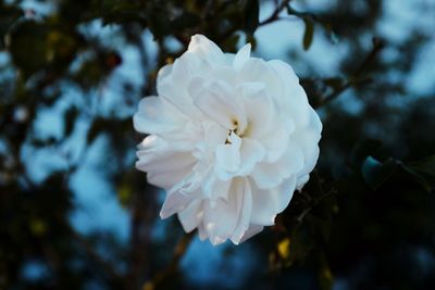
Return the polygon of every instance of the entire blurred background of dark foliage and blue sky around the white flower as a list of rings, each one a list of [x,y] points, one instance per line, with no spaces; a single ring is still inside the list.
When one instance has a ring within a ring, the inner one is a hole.
[[[203,34],[289,63],[323,125],[271,227],[212,247],[134,168]],[[434,0],[0,0],[0,289],[435,289]]]

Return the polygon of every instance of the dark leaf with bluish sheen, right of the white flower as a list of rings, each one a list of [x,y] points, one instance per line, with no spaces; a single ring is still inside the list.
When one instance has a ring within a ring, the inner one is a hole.
[[[397,162],[393,159],[384,163],[368,156],[362,164],[361,173],[365,182],[374,190],[382,186],[396,171]]]

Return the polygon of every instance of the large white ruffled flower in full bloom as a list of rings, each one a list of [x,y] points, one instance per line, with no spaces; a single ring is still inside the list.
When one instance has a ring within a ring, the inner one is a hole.
[[[223,53],[201,35],[165,65],[158,97],[144,98],[135,129],[149,134],[136,167],[166,190],[161,217],[213,244],[239,243],[274,224],[309,179],[322,123],[293,68]]]

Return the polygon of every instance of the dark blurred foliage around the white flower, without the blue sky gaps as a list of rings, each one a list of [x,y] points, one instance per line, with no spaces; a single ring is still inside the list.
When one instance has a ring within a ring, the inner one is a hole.
[[[157,70],[179,55],[192,34],[235,51],[244,40],[256,45],[260,26],[287,17],[304,24],[303,50],[323,34],[333,42],[339,38],[348,52],[341,75],[301,79],[323,116],[320,162],[276,226],[248,242],[262,263],[244,288],[331,289],[341,282],[344,289],[435,289],[435,92],[414,96],[405,81],[430,39],[424,30],[396,41],[377,37],[385,8],[376,0],[335,1],[324,11],[270,1],[275,8],[264,20],[257,0],[37,2],[50,11],[0,1],[0,53],[8,60],[0,63],[0,289],[201,288],[178,268],[191,235],[170,224],[164,242],[151,238],[157,191],[133,168],[140,137],[132,110],[156,90]],[[115,39],[92,34],[96,22],[113,28]],[[157,62],[150,61],[146,33],[152,34]],[[175,51],[170,40],[177,42]],[[138,78],[146,79],[140,88],[123,84],[122,105],[102,112],[98,92],[123,64],[126,46],[137,49]],[[399,58],[380,56],[384,49]],[[78,93],[59,119],[62,134],[41,137],[38,115],[62,103],[65,87]],[[358,113],[339,102],[344,94],[360,104]],[[83,134],[79,123],[87,124]],[[58,154],[77,134],[85,140],[78,156],[63,154],[65,166],[35,179],[32,155]],[[71,178],[101,138],[108,141],[98,171],[130,213],[126,245],[104,232],[82,235],[70,223],[76,206]],[[29,148],[30,157],[24,154]],[[24,274],[33,264],[44,269],[37,278]]]

